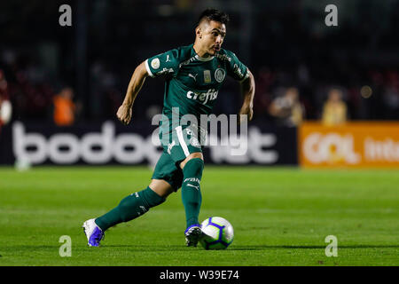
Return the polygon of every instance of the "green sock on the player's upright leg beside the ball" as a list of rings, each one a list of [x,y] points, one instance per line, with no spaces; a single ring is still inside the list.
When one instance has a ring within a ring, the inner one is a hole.
[[[184,165],[182,201],[185,209],[187,227],[199,224],[201,207],[200,180],[204,170],[204,162],[200,158],[190,160]]]

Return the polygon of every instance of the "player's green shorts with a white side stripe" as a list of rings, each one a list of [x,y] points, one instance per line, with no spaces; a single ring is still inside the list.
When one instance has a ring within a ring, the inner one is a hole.
[[[176,127],[168,136],[169,143],[161,143],[163,153],[153,170],[152,178],[165,180],[176,192],[183,183],[183,170],[180,169],[180,162],[183,162],[192,153],[202,153],[202,146],[197,137],[196,131],[190,126]],[[161,137],[160,140],[162,141]]]

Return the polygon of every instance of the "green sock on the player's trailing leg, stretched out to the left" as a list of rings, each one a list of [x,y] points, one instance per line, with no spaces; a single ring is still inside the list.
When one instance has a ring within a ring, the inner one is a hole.
[[[122,199],[117,207],[96,218],[95,222],[104,232],[113,225],[128,222],[145,214],[150,208],[159,205],[163,201],[165,201],[165,198],[155,193],[150,187],[147,187],[141,192],[131,193]]]

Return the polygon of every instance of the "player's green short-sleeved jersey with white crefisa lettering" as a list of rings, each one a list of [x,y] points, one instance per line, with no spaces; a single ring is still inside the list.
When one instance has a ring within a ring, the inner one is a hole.
[[[179,119],[184,114],[194,115],[200,122],[201,114],[210,114],[217,93],[226,75],[237,81],[248,77],[248,69],[237,56],[221,49],[215,56],[201,58],[193,44],[178,47],[145,60],[150,76],[164,75],[166,79],[162,114],[168,118],[168,127],[161,127],[166,133],[172,130],[172,115],[178,110]]]

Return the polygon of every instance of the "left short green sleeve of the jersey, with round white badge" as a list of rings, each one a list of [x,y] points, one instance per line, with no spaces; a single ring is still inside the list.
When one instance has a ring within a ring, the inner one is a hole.
[[[179,67],[179,51],[171,50],[145,60],[145,68],[148,75],[176,75]]]

